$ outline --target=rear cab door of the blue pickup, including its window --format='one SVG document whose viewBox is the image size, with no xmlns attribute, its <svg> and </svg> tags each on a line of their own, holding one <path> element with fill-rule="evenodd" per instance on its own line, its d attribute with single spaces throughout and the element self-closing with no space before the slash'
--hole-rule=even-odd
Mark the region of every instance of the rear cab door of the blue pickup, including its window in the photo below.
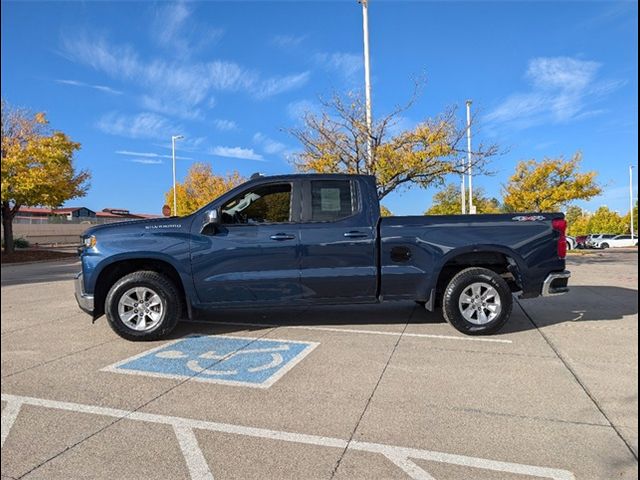
<svg viewBox="0 0 640 480">
<path fill-rule="evenodd" d="M 304 299 L 375 301 L 375 238 L 375 225 L 365 214 L 357 181 L 304 181 L 300 224 Z"/>
</svg>

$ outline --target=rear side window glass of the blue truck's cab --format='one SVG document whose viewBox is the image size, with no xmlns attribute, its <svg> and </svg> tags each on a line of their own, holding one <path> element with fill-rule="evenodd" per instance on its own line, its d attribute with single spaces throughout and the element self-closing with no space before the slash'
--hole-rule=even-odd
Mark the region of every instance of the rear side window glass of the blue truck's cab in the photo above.
<svg viewBox="0 0 640 480">
<path fill-rule="evenodd" d="M 333 222 L 353 215 L 354 195 L 348 180 L 311 182 L 311 220 Z"/>
</svg>

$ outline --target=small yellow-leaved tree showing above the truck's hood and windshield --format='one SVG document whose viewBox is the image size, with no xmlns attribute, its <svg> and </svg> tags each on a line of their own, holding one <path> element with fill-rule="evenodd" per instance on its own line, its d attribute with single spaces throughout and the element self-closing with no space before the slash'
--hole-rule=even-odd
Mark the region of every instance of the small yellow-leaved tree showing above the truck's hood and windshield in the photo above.
<svg viewBox="0 0 640 480">
<path fill-rule="evenodd" d="M 246 179 L 238 172 L 234 171 L 224 176 L 215 175 L 211 165 L 194 163 L 189 168 L 184 182 L 176 184 L 177 215 L 188 215 L 195 212 L 245 181 Z M 165 194 L 165 200 L 173 210 L 173 187 Z M 176 215 L 175 212 L 172 214 Z"/>
</svg>

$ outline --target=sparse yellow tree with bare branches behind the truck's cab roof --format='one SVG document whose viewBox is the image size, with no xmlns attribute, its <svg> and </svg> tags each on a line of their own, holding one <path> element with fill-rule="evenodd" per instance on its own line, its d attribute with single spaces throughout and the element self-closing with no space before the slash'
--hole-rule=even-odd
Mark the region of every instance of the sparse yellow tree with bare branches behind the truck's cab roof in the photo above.
<svg viewBox="0 0 640 480">
<path fill-rule="evenodd" d="M 322 111 L 306 112 L 302 125 L 289 129 L 302 145 L 293 155 L 294 165 L 303 172 L 373 175 L 379 199 L 400 187 L 442 184 L 447 175 L 466 171 L 462 145 L 466 128 L 458 125 L 454 108 L 410 129 L 399 129 L 418 88 L 406 105 L 377 120 L 371 132 L 360 94 L 334 94 L 321 101 Z M 373 147 L 371 158 L 368 142 Z M 479 144 L 472 156 L 474 172 L 480 173 L 497 150 L 495 145 Z"/>
</svg>

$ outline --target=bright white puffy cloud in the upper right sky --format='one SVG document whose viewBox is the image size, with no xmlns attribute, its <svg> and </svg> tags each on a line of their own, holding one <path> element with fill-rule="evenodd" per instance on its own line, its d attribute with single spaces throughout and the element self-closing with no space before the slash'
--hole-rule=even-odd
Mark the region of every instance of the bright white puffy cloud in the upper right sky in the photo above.
<svg viewBox="0 0 640 480">
<path fill-rule="evenodd" d="M 566 123 L 601 114 L 591 104 L 624 85 L 599 81 L 601 64 L 571 57 L 540 57 L 529 61 L 528 92 L 509 95 L 485 117 L 491 125 L 527 128 L 543 123 Z"/>
</svg>

